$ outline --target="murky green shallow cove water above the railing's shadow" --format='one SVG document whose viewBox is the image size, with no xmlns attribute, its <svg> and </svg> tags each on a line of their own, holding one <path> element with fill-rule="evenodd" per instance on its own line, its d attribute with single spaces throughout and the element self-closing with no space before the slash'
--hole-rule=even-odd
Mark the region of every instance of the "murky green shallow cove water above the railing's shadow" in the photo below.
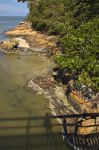
<svg viewBox="0 0 99 150">
<path fill-rule="evenodd" d="M 31 78 L 44 72 L 48 67 L 46 60 L 38 56 L 0 55 L 0 112 L 34 111 L 48 106 L 44 97 L 36 96 L 27 90 Z M 35 107 L 34 107 L 35 104 Z"/>
</svg>

